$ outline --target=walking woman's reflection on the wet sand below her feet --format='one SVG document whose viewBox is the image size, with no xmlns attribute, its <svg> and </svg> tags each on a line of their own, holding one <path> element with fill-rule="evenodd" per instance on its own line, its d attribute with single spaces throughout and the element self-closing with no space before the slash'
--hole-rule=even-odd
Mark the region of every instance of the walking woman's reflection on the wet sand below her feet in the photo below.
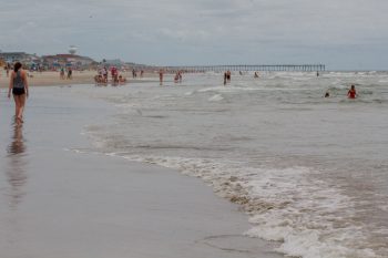
<svg viewBox="0 0 388 258">
<path fill-rule="evenodd" d="M 8 166 L 6 171 L 8 183 L 11 186 L 8 195 L 10 196 L 9 204 L 12 208 L 20 204 L 24 195 L 23 185 L 27 182 L 25 165 L 23 127 L 21 124 L 14 124 L 11 144 L 8 146 Z"/>
</svg>

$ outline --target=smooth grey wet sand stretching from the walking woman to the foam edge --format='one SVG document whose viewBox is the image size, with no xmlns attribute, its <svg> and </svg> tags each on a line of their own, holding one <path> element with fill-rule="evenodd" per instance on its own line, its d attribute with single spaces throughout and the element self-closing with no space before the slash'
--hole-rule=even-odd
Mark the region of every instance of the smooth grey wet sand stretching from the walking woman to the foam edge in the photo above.
<svg viewBox="0 0 388 258">
<path fill-rule="evenodd" d="M 200 179 L 91 153 L 82 127 L 110 111 L 72 90 L 34 89 L 23 126 L 0 96 L 1 257 L 283 257 Z"/>
</svg>

